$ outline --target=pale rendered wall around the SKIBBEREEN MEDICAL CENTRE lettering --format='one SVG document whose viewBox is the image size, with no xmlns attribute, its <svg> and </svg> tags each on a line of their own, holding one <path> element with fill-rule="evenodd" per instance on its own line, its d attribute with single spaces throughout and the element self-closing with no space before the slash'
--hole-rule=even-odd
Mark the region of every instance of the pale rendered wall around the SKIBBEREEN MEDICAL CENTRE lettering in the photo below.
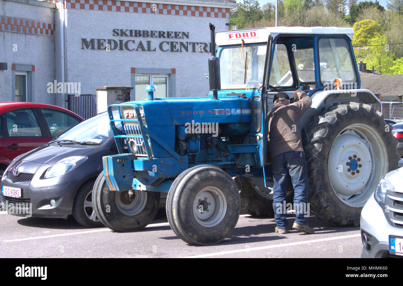
<svg viewBox="0 0 403 286">
<path fill-rule="evenodd" d="M 85 19 L 85 20 L 83 20 Z M 100 21 L 102 19 L 102 21 Z M 94 94 L 96 86 L 131 86 L 131 68 L 163 68 L 176 70 L 171 97 L 205 96 L 208 92 L 207 59 L 205 52 L 160 51 L 161 41 L 189 41 L 210 43 L 208 24 L 216 31 L 226 30 L 226 18 L 143 14 L 99 10 L 67 10 L 66 81 L 81 82 L 81 94 Z M 56 27 L 57 29 L 57 27 Z M 158 31 L 189 31 L 189 39 L 159 39 L 114 37 L 112 29 Z M 152 40 L 156 51 L 105 51 L 81 49 L 81 38 Z M 189 49 L 190 50 L 190 49 Z M 57 65 L 57 62 L 56 62 Z M 56 69 L 56 71 L 58 68 Z"/>
</svg>

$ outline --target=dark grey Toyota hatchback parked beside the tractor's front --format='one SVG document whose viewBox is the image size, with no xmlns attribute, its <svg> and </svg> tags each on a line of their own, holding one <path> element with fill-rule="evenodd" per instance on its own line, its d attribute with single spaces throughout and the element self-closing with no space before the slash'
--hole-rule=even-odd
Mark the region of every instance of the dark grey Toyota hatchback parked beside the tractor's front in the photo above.
<svg viewBox="0 0 403 286">
<path fill-rule="evenodd" d="M 101 226 L 92 206 L 92 187 L 103 171 L 102 156 L 117 152 L 108 113 L 95 115 L 17 156 L 2 177 L 1 203 L 9 214 L 43 218 L 73 214 L 83 226 Z"/>
</svg>

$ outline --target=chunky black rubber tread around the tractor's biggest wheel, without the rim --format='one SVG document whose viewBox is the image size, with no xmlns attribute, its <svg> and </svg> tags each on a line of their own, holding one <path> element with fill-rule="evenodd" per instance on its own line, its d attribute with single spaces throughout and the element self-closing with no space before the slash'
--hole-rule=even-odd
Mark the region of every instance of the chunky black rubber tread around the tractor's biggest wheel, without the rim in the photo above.
<svg viewBox="0 0 403 286">
<path fill-rule="evenodd" d="M 397 140 L 391 132 L 385 132 L 383 116 L 372 106 L 349 102 L 348 104 L 332 106 L 321 115 L 313 117 L 306 130 L 308 138 L 304 138 L 303 142 L 310 183 L 310 210 L 320 220 L 329 224 L 338 226 L 359 225 L 361 208 L 354 208 L 355 210 L 353 210 L 352 207 L 340 201 L 337 204 L 337 196 L 332 190 L 329 180 L 326 179 L 328 178 L 328 154 L 333 144 L 332 138 L 339 134 L 343 126 L 359 121 L 372 126 L 381 135 L 388 152 L 388 171 L 397 168 L 400 157 L 396 149 Z"/>
</svg>

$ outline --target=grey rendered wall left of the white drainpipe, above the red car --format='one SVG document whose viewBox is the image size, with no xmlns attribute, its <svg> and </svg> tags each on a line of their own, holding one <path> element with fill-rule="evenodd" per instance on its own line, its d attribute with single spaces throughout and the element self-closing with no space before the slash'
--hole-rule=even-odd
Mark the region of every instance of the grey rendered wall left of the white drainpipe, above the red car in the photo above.
<svg viewBox="0 0 403 286">
<path fill-rule="evenodd" d="M 32 0 L 0 0 L 1 16 L 54 24 L 53 4 Z M 1 24 L 0 24 L 1 25 Z M 0 70 L 0 101 L 12 98 L 12 64 L 34 65 L 32 101 L 54 104 L 54 95 L 47 93 L 48 82 L 54 80 L 54 36 L 16 33 L 0 30 L 0 62 L 7 62 L 7 70 Z M 17 51 L 13 45 L 17 44 Z M 15 47 L 15 46 L 14 46 Z"/>
</svg>

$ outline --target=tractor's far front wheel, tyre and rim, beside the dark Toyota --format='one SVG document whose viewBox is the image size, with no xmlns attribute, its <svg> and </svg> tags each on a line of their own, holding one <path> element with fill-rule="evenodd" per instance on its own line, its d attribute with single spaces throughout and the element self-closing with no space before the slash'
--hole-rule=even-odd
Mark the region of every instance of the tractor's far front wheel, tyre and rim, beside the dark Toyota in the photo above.
<svg viewBox="0 0 403 286">
<path fill-rule="evenodd" d="M 157 214 L 160 206 L 160 193 L 133 191 L 110 191 L 100 173 L 94 184 L 92 201 L 99 220 L 115 231 L 141 230 L 149 224 Z"/>
</svg>

